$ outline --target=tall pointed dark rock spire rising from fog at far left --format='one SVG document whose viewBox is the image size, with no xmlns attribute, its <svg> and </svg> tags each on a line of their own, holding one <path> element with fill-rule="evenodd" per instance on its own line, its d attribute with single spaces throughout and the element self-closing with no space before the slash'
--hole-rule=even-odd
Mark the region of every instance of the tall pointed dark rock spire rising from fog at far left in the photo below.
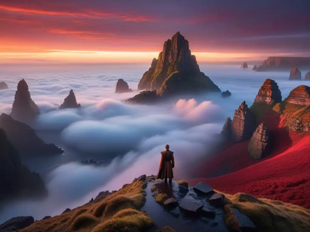
<svg viewBox="0 0 310 232">
<path fill-rule="evenodd" d="M 12 105 L 11 116 L 21 122 L 28 122 L 35 119 L 40 111 L 32 101 L 28 85 L 24 79 L 17 84 L 15 99 Z"/>
</svg>

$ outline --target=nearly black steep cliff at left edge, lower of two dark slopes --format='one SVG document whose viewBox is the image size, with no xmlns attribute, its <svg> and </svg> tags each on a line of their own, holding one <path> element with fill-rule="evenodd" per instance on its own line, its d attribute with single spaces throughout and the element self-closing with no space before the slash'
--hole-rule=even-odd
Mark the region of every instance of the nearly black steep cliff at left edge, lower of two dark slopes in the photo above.
<svg viewBox="0 0 310 232">
<path fill-rule="evenodd" d="M 45 196 L 47 190 L 39 174 L 21 163 L 18 151 L 0 128 L 0 197 Z"/>
</svg>

